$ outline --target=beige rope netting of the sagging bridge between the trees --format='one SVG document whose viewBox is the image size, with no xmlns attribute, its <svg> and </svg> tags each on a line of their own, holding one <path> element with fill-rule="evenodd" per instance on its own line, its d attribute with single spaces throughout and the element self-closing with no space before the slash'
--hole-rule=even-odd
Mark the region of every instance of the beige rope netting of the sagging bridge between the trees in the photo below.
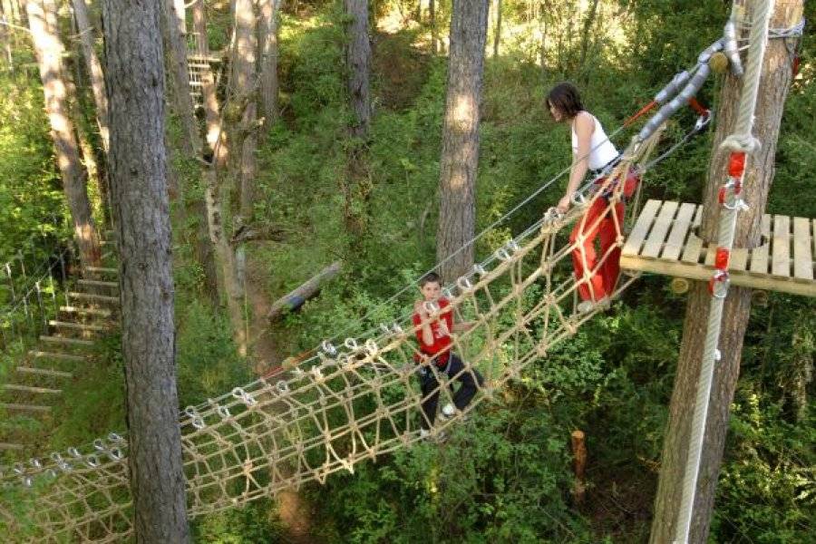
<svg viewBox="0 0 816 544">
<path fill-rule="evenodd" d="M 452 402 L 460 374 L 478 371 L 484 380 L 481 385 L 474 380 L 479 393 L 461 413 L 438 421 L 434 434 L 459 424 L 604 308 L 578 311 L 578 288 L 590 284 L 622 247 L 624 227 L 615 210 L 627 177 L 636 163 L 645 163 L 656 138 L 631 146 L 586 204 L 564 216 L 548 212 L 444 289 L 456 320 L 472 326 L 452 335 L 451 349 L 464 362 L 459 374 L 424 365 L 439 382 L 439 405 Z M 585 224 L 586 209 L 598 202 L 605 203 L 606 212 Z M 595 237 L 605 218 L 614 224 L 614 243 L 575 277 L 574 251 Z M 580 227 L 567 236 L 565 227 L 573 223 Z M 635 279 L 621 277 L 613 296 Z M 438 312 L 432 308 L 429 319 Z M 423 398 L 414 377 L 423 367 L 416 362 L 421 354 L 415 334 L 421 327 L 409 319 L 383 325 L 366 338 L 349 338 L 340 349 L 326 342 L 310 368 L 296 368 L 277 381 L 259 379 L 185 409 L 180 427 L 190 516 L 307 481 L 325 482 L 336 471 L 354 471 L 359 461 L 420 440 L 426 417 L 421 406 L 434 394 Z M 0 506 L 0 526 L 18 541 L 112 542 L 131 533 L 127 440 L 121 435 L 17 463 L 0 475 L 0 484 L 7 499 Z"/>
</svg>

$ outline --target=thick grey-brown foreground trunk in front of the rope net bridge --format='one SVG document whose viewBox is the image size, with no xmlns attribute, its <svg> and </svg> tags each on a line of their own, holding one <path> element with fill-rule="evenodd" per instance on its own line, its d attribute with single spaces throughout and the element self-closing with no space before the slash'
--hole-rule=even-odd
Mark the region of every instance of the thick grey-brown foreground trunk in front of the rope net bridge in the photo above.
<svg viewBox="0 0 816 544">
<path fill-rule="evenodd" d="M 157 3 L 105 0 L 111 178 L 136 542 L 188 542 L 176 391 L 164 74 Z"/>
</svg>

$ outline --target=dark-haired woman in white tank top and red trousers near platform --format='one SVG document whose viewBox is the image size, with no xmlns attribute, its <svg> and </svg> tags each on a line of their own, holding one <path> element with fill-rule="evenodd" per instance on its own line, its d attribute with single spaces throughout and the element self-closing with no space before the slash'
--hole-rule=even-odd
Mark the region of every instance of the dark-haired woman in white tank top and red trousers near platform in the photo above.
<svg viewBox="0 0 816 544">
<path fill-rule="evenodd" d="M 617 149 L 607 138 L 596 117 L 584 109 L 581 97 L 572 83 L 559 83 L 547 95 L 547 107 L 553 120 L 569 123 L 572 129 L 572 169 L 569 172 L 567 192 L 556 207 L 566 213 L 572 195 L 589 171 L 596 184 L 606 180 L 607 174 L 620 160 Z M 628 183 L 627 183 L 628 184 Z M 578 279 L 578 311 L 586 313 L 597 305 L 608 303 L 615 291 L 620 274 L 620 248 L 616 246 L 618 232 L 623 224 L 624 204 L 618 201 L 612 214 L 607 200 L 609 189 L 590 201 L 589 208 L 569 235 L 569 241 L 578 245 L 572 251 L 572 263 Z M 614 217 L 613 217 L 614 216 Z M 600 253 L 595 240 L 600 238 Z"/>
</svg>

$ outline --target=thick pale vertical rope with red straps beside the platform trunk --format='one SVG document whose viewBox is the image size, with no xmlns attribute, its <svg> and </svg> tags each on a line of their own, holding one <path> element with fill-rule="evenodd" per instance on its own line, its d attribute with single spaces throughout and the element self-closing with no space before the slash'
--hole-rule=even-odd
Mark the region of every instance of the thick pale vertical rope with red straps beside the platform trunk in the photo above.
<svg viewBox="0 0 816 544">
<path fill-rule="evenodd" d="M 686 458 L 683 481 L 683 496 L 680 502 L 680 513 L 675 531 L 675 543 L 687 544 L 691 530 L 691 520 L 695 505 L 697 481 L 700 474 L 700 461 L 703 455 L 705 423 L 708 419 L 708 406 L 714 381 L 714 362 L 719 360 L 717 345 L 723 321 L 723 306 L 728 292 L 728 256 L 733 248 L 734 231 L 736 230 L 737 212 L 743 206 L 740 198 L 745 176 L 744 154 L 753 153 L 760 147 L 752 134 L 753 113 L 756 108 L 756 96 L 759 90 L 760 74 L 768 40 L 768 23 L 772 11 L 772 0 L 754 2 L 753 22 L 748 49 L 748 63 L 745 68 L 743 92 L 740 99 L 739 114 L 733 134 L 725 139 L 723 147 L 735 152 L 729 166 L 730 180 L 724 186 L 726 200 L 720 214 L 717 237 L 717 254 L 724 256 L 724 262 L 718 258 L 718 267 L 710 283 L 712 292 L 711 306 L 708 312 L 708 325 L 705 335 L 703 362 L 697 380 L 695 397 L 695 414 L 689 437 L 688 457 Z M 740 157 L 742 160 L 740 160 Z M 736 178 L 736 179 L 734 179 Z"/>
</svg>

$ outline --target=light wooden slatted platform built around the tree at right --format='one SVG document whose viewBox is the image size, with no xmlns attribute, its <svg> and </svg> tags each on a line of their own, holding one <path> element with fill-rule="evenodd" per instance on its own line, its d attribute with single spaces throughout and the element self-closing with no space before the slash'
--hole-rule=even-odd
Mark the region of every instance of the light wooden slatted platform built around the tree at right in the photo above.
<svg viewBox="0 0 816 544">
<path fill-rule="evenodd" d="M 707 281 L 715 247 L 695 235 L 702 206 L 648 200 L 620 257 L 624 269 Z M 816 219 L 765 215 L 763 245 L 734 248 L 729 273 L 734 286 L 816 296 Z"/>
</svg>

